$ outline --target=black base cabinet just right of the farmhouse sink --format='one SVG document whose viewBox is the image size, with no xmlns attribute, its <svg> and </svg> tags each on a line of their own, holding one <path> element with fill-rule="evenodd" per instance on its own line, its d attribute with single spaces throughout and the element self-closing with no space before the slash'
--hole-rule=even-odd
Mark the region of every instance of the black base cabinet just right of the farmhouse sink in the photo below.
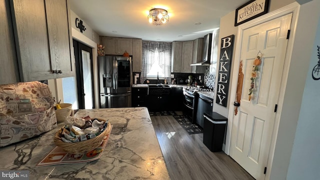
<svg viewBox="0 0 320 180">
<path fill-rule="evenodd" d="M 170 110 L 182 110 L 183 91 L 182 87 L 171 87 Z"/>
</svg>

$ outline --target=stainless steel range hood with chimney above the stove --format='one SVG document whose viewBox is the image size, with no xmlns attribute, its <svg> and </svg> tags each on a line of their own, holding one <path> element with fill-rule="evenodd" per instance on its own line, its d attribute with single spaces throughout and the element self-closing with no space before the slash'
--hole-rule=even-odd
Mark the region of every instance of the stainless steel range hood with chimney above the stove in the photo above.
<svg viewBox="0 0 320 180">
<path fill-rule="evenodd" d="M 203 37 L 203 50 L 202 50 L 202 61 L 192 63 L 190 65 L 210 65 L 211 59 L 211 44 L 212 44 L 212 33 L 208 33 Z"/>
</svg>

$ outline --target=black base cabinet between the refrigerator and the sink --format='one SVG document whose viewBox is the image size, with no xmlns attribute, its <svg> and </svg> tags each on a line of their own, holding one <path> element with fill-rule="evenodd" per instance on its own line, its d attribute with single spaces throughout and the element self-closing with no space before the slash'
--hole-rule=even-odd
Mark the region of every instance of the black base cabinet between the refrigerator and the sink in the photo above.
<svg viewBox="0 0 320 180">
<path fill-rule="evenodd" d="M 132 87 L 132 106 L 145 107 L 147 99 L 147 87 Z"/>
</svg>

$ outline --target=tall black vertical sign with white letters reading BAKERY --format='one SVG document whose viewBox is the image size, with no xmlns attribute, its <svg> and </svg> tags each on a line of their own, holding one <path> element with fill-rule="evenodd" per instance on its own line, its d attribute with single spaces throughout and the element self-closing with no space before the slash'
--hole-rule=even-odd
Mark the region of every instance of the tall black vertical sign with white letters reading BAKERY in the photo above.
<svg viewBox="0 0 320 180">
<path fill-rule="evenodd" d="M 215 102 L 226 107 L 229 90 L 229 76 L 233 49 L 233 34 L 221 38 L 218 83 Z"/>
</svg>

